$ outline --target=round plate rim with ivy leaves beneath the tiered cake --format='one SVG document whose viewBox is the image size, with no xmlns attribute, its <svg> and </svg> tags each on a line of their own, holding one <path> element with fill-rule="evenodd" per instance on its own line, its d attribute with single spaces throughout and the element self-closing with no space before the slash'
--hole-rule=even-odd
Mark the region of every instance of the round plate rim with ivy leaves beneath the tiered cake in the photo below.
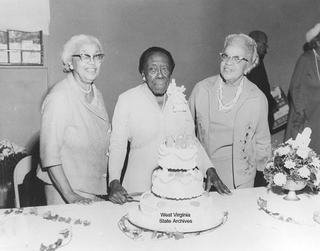
<svg viewBox="0 0 320 251">
<path fill-rule="evenodd" d="M 137 213 L 137 212 L 135 212 Z M 142 215 L 139 211 L 139 214 Z M 209 228 L 197 230 L 197 231 L 188 231 L 188 232 L 179 232 L 179 231 L 164 231 L 163 229 L 155 229 L 155 227 L 151 227 L 148 224 L 141 224 L 141 222 L 137 223 L 136 221 L 130 220 L 129 214 L 126 214 L 121 218 L 118 223 L 119 228 L 123 231 L 123 233 L 131 239 L 136 241 L 143 240 L 164 240 L 169 238 L 189 238 L 193 236 L 198 236 L 206 233 L 210 233 L 211 231 L 216 230 L 221 227 L 228 219 L 228 212 L 222 212 L 223 216 L 219 221 L 212 224 Z M 165 224 L 165 223 L 164 223 Z"/>
</svg>

